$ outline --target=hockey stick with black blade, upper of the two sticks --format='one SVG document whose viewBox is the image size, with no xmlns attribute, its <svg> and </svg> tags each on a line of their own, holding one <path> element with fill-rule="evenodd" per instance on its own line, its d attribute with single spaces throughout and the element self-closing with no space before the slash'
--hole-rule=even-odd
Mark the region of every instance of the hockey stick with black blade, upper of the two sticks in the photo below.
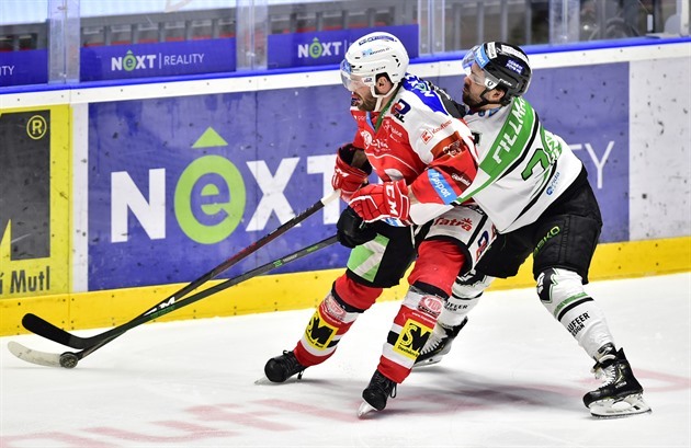
<svg viewBox="0 0 691 448">
<path fill-rule="evenodd" d="M 299 222 L 304 221 L 309 216 L 311 216 L 315 212 L 319 211 L 321 208 L 324 208 L 324 206 L 326 204 L 328 204 L 329 202 L 331 202 L 335 198 L 339 197 L 339 193 L 340 192 L 337 189 L 337 191 L 332 192 L 331 194 L 329 194 L 328 196 L 322 197 L 321 199 L 319 199 L 317 203 L 315 203 L 311 207 L 309 207 L 308 209 L 306 209 L 302 214 L 295 216 L 293 219 L 284 222 L 282 226 L 280 226 L 279 228 L 274 229 L 273 231 L 271 231 L 267 236 L 264 236 L 264 237 L 260 238 L 259 240 L 254 241 L 252 244 L 250 244 L 247 248 L 242 249 L 240 252 L 236 253 L 235 255 L 233 255 L 231 257 L 229 257 L 225 262 L 220 263 L 218 266 L 214 267 L 213 269 L 211 269 L 209 272 L 207 272 L 203 276 L 201 276 L 197 279 L 195 279 L 195 280 L 189 283 L 188 285 L 185 285 L 182 289 L 173 292 L 171 296 L 168 296 L 167 298 L 161 300 L 158 305 L 156 305 L 154 308 L 145 311 L 144 313 L 139 314 L 138 317 L 136 317 L 132 321 L 129 321 L 127 323 L 124 323 L 124 324 L 122 324 L 120 326 L 115 326 L 114 329 L 111 329 L 111 330 L 109 330 L 106 332 L 103 332 L 101 334 L 97 334 L 97 335 L 91 336 L 91 337 L 79 337 L 79 336 L 76 336 L 76 335 L 73 335 L 71 333 L 68 333 L 67 331 L 65 331 L 65 330 L 54 325 L 53 323 L 46 321 L 43 318 L 39 318 L 36 314 L 33 314 L 33 313 L 24 314 L 24 317 L 22 318 L 22 325 L 24 325 L 24 328 L 26 330 L 31 331 L 32 333 L 35 333 L 35 334 L 37 334 L 39 336 L 48 338 L 48 340 L 50 340 L 53 342 L 57 342 L 58 344 L 67 345 L 68 347 L 72 347 L 72 348 L 89 348 L 91 346 L 98 345 L 102 341 L 109 340 L 113 335 L 120 335 L 123 332 L 125 332 L 125 331 L 127 331 L 127 330 L 138 325 L 138 323 L 135 323 L 135 322 L 140 322 L 140 320 L 143 318 L 146 318 L 149 314 L 156 314 L 157 311 L 160 311 L 160 310 L 162 310 L 162 309 L 165 309 L 167 307 L 170 307 L 171 305 L 175 303 L 175 301 L 179 300 L 180 298 L 182 298 L 183 296 L 186 296 L 188 294 L 192 292 L 194 289 L 199 288 L 200 286 L 202 286 L 206 282 L 208 282 L 212 278 L 220 275 L 223 272 L 227 271 L 233 265 L 237 264 L 238 262 L 240 262 L 241 260 L 243 260 L 248 255 L 254 253 L 256 251 L 258 251 L 259 249 L 263 248 L 264 245 L 267 245 L 271 241 L 275 240 L 276 238 L 282 236 L 283 233 L 285 233 L 287 230 L 292 229 L 293 227 L 295 227 Z M 145 320 L 144 322 L 147 322 L 147 321 Z"/>
</svg>

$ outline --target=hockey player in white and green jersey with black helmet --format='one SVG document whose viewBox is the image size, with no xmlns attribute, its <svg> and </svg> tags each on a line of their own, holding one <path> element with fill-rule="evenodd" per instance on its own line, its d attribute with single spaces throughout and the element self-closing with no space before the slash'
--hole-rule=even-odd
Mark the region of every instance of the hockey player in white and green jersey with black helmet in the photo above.
<svg viewBox="0 0 691 448">
<path fill-rule="evenodd" d="M 531 80 L 518 46 L 484 43 L 463 60 L 464 119 L 480 158 L 473 198 L 498 236 L 475 269 L 456 279 L 416 367 L 439 363 L 494 278 L 514 276 L 533 254 L 541 302 L 596 361 L 603 384 L 584 397 L 597 417 L 649 412 L 623 349 L 616 349 L 602 310 L 585 291 L 602 219 L 584 164 L 542 126 L 522 95 Z"/>
</svg>

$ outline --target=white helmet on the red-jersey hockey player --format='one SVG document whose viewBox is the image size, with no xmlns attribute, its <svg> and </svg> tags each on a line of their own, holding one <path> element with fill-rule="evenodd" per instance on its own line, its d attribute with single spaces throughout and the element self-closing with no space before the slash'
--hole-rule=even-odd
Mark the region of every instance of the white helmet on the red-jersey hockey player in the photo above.
<svg viewBox="0 0 691 448">
<path fill-rule="evenodd" d="M 408 51 L 398 37 L 383 32 L 371 33 L 348 47 L 341 62 L 341 80 L 350 91 L 365 84 L 374 96 L 380 96 L 374 91 L 376 76 L 386 73 L 395 85 L 406 76 L 408 61 Z"/>
</svg>

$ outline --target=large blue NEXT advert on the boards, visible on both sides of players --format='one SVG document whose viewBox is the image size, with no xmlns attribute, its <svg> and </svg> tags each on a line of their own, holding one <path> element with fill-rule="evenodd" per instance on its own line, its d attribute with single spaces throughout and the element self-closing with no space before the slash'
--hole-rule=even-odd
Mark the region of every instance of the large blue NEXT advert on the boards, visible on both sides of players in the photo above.
<svg viewBox="0 0 691 448">
<path fill-rule="evenodd" d="M 591 70 L 539 70 L 528 99 L 584 160 L 601 240 L 626 241 L 628 65 L 580 81 Z M 90 104 L 89 290 L 192 280 L 309 207 L 330 188 L 336 148 L 352 140 L 349 99 L 326 85 Z M 227 274 L 326 238 L 337 219 L 328 208 Z M 285 272 L 344 265 L 346 250 L 325 252 Z"/>
</svg>

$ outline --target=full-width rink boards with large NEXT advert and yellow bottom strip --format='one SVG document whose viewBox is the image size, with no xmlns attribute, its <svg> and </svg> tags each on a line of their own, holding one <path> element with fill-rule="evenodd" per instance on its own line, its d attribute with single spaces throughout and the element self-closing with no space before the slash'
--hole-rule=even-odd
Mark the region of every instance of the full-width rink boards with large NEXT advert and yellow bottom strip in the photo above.
<svg viewBox="0 0 691 448">
<path fill-rule="evenodd" d="M 331 57 L 340 46 L 330 38 L 284 45 L 293 57 Z M 102 62 L 134 71 L 151 59 L 133 51 L 136 62 L 125 62 L 120 49 L 105 57 L 116 62 Z M 605 244 L 591 280 L 691 268 L 689 102 L 668 88 L 687 81 L 688 49 L 530 54 L 526 99 L 584 161 L 601 205 Z M 461 59 L 422 58 L 410 71 L 460 97 Z M 199 58 L 177 59 L 185 60 Z M 0 100 L 0 334 L 22 333 L 27 310 L 72 330 L 129 320 L 327 196 L 337 148 L 355 131 L 336 66 L 111 80 Z M 667 175 L 650 176 L 650 166 Z M 332 236 L 342 208 L 327 204 L 222 277 Z M 337 244 L 161 319 L 307 308 L 347 257 Z M 533 286 L 531 267 L 492 288 Z M 400 299 L 405 286 L 382 300 Z"/>
</svg>

